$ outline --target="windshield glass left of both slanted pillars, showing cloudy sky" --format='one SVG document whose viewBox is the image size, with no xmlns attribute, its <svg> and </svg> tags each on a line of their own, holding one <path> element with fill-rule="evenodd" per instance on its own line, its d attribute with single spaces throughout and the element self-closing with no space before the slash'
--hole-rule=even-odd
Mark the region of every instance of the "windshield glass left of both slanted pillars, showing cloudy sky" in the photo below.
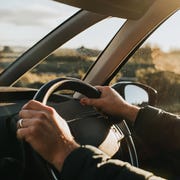
<svg viewBox="0 0 180 180">
<path fill-rule="evenodd" d="M 0 0 L 0 72 L 79 9 L 51 0 Z"/>
</svg>

